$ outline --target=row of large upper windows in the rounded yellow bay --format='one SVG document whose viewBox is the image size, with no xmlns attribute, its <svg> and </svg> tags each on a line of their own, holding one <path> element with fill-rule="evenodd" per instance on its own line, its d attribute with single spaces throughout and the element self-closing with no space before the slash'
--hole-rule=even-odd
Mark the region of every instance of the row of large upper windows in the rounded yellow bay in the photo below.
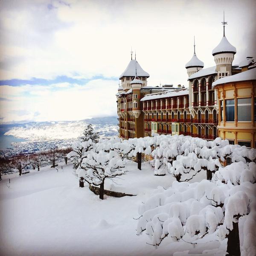
<svg viewBox="0 0 256 256">
<path fill-rule="evenodd" d="M 221 105 L 221 121 L 224 117 L 224 106 L 223 100 L 220 101 Z M 237 120 L 238 121 L 251 121 L 251 98 L 237 99 L 237 104 L 235 104 L 235 99 L 225 100 L 225 114 L 227 122 L 234 122 L 235 119 L 235 107 L 237 108 Z M 256 121 L 256 98 L 254 98 L 254 121 Z"/>
</svg>

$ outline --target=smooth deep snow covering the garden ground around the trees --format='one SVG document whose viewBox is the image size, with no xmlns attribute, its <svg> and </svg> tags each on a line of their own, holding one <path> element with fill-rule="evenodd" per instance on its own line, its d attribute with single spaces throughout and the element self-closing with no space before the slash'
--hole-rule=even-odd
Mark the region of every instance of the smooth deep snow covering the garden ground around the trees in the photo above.
<svg viewBox="0 0 256 256">
<path fill-rule="evenodd" d="M 137 196 L 106 200 L 100 200 L 88 185 L 79 188 L 71 164 L 61 163 L 58 172 L 46 166 L 21 177 L 4 175 L 0 181 L 1 255 L 195 256 L 214 255 L 219 247 L 225 250 L 226 240 L 201 241 L 195 248 L 186 242 L 163 241 L 155 249 L 146 244 L 146 236 L 137 236 L 134 218 L 139 217 L 141 202 L 157 186 L 169 187 L 175 180 L 172 175 L 154 176 L 148 163 L 142 167 L 140 171 L 136 163 L 128 163 L 128 174 L 114 180 L 117 184 L 108 181 L 105 186 Z M 201 172 L 194 179 L 205 177 Z"/>
</svg>

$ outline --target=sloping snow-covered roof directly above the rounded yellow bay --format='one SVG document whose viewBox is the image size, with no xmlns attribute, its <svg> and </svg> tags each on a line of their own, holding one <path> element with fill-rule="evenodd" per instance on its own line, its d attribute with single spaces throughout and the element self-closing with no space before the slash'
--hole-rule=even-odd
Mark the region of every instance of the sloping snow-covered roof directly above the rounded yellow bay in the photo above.
<svg viewBox="0 0 256 256">
<path fill-rule="evenodd" d="M 217 81 L 212 83 L 212 87 L 218 84 L 227 84 L 231 82 L 250 81 L 250 80 L 256 80 L 256 68 L 238 73 L 233 76 L 226 76 L 221 79 L 218 79 Z"/>
</svg>

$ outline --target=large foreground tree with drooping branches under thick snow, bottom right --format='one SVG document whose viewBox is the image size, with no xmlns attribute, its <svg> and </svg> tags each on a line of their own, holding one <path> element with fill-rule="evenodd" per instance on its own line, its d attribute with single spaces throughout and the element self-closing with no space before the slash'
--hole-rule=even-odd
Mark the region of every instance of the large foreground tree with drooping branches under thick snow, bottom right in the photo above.
<svg viewBox="0 0 256 256">
<path fill-rule="evenodd" d="M 252 234 L 256 224 L 255 177 L 254 162 L 239 162 L 220 168 L 212 181 L 175 181 L 169 189 L 159 187 L 139 208 L 137 234 L 145 230 L 149 244 L 154 246 L 163 239 L 196 245 L 198 239 L 211 234 L 212 240 L 228 238 L 227 252 L 240 255 L 239 218 L 248 215 L 245 234 Z M 253 241 L 253 237 L 248 239 Z M 250 250 L 244 255 L 256 254 L 256 247 L 243 246 L 243 250 Z"/>
</svg>

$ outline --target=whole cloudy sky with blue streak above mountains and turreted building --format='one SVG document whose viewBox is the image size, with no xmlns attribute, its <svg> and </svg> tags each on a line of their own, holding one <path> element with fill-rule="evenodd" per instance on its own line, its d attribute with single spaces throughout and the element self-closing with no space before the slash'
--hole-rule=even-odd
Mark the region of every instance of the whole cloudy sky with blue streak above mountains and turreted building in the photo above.
<svg viewBox="0 0 256 256">
<path fill-rule="evenodd" d="M 214 66 L 223 36 L 233 64 L 256 57 L 254 0 L 0 0 L 0 123 L 116 115 L 119 75 L 131 59 L 149 86 L 188 86 L 196 54 Z"/>
</svg>

